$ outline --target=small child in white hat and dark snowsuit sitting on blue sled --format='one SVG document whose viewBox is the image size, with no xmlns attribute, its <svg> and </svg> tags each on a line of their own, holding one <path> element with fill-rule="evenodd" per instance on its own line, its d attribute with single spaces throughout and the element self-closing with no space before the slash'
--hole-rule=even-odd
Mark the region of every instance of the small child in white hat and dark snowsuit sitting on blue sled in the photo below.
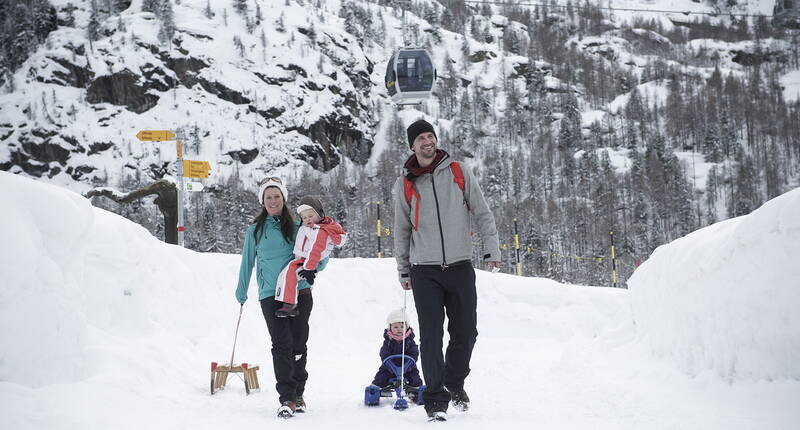
<svg viewBox="0 0 800 430">
<path fill-rule="evenodd" d="M 391 355 L 403 354 L 404 352 L 405 355 L 413 358 L 416 362 L 419 357 L 419 348 L 414 341 L 414 330 L 408 325 L 408 319 L 403 310 L 398 309 L 390 312 L 386 317 L 386 324 L 388 327 L 383 331 L 383 345 L 380 351 L 381 363 Z M 404 343 L 405 348 L 403 347 Z M 399 359 L 395 361 L 397 361 L 396 365 L 400 365 Z M 406 385 L 403 388 L 408 395 L 408 399 L 416 403 L 419 387 L 422 385 L 422 378 L 419 376 L 416 363 L 408 368 L 403 377 L 406 380 Z M 389 383 L 389 380 L 393 378 L 396 378 L 396 375 L 381 365 L 372 380 L 372 385 L 380 387 L 381 392 L 388 393 L 400 383 L 399 381 L 395 381 L 393 384 Z"/>
</svg>

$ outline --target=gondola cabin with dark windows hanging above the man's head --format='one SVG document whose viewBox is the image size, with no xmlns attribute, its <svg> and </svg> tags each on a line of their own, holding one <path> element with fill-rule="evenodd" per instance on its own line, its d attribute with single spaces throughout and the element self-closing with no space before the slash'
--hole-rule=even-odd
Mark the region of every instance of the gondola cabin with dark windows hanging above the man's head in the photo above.
<svg viewBox="0 0 800 430">
<path fill-rule="evenodd" d="M 424 49 L 401 49 L 386 66 L 386 91 L 400 105 L 427 100 L 435 81 L 436 69 Z"/>
</svg>

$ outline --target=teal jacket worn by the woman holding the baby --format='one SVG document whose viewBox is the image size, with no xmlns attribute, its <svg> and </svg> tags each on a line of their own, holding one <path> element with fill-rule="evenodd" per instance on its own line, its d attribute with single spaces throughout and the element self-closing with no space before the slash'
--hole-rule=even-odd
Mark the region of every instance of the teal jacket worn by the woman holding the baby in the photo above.
<svg viewBox="0 0 800 430">
<path fill-rule="evenodd" d="M 292 232 L 292 241 L 287 243 L 281 234 L 280 218 L 268 216 L 264 220 L 258 245 L 253 237 L 256 225 L 252 224 L 245 234 L 244 247 L 242 248 L 242 264 L 239 266 L 239 285 L 236 287 L 236 300 L 239 303 L 247 301 L 247 289 L 250 285 L 250 276 L 253 273 L 253 264 L 256 267 L 256 281 L 258 282 L 258 299 L 263 300 L 275 295 L 275 283 L 284 267 L 294 260 L 294 239 L 297 237 L 299 222 L 295 222 Z M 328 259 L 320 261 L 317 271 L 322 271 L 328 264 Z M 300 280 L 297 289 L 309 288 L 308 282 Z"/>
</svg>

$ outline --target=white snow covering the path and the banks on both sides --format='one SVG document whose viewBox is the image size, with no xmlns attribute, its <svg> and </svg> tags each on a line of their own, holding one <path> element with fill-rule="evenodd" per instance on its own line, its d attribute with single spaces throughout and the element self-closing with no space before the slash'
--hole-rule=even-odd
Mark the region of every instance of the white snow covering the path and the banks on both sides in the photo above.
<svg viewBox="0 0 800 430">
<path fill-rule="evenodd" d="M 235 361 L 261 364 L 262 390 L 245 396 L 234 379 L 208 393 L 210 362 L 230 357 L 237 255 L 166 245 L 77 194 L 5 172 L 0 207 L 3 428 L 283 424 L 253 300 Z M 473 405 L 445 425 L 798 428 L 798 215 L 795 190 L 665 245 L 630 292 L 479 271 Z M 403 300 L 394 261 L 335 259 L 314 299 L 310 410 L 285 425 L 427 428 L 420 407 L 362 403 L 385 315 Z"/>
</svg>

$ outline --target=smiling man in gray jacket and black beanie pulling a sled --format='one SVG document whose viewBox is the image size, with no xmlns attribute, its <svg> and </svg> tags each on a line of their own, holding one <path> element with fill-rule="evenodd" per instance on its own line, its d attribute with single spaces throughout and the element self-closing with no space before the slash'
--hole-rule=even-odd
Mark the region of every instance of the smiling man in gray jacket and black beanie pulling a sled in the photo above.
<svg viewBox="0 0 800 430">
<path fill-rule="evenodd" d="M 487 269 L 499 268 L 497 228 L 469 168 L 437 148 L 425 120 L 406 130 L 414 154 L 394 185 L 394 252 L 400 285 L 413 290 L 420 330 L 425 410 L 447 419 L 447 406 L 466 410 L 472 348 L 478 336 L 470 218 L 484 242 Z M 450 343 L 442 356 L 444 316 Z"/>
</svg>

